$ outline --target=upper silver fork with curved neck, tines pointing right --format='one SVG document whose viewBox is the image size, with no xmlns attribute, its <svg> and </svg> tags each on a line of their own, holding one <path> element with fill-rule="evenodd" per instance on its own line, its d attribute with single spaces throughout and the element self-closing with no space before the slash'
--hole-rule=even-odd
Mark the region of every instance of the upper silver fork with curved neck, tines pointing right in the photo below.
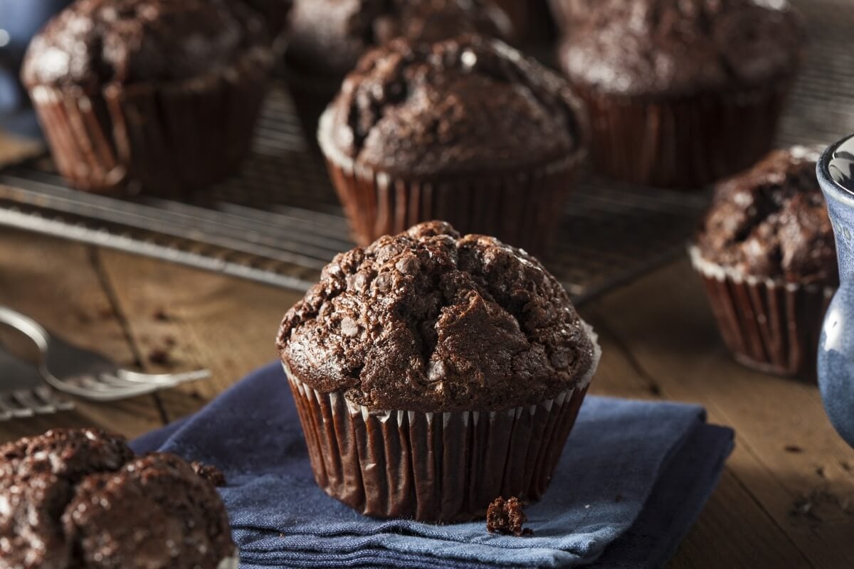
<svg viewBox="0 0 854 569">
<path fill-rule="evenodd" d="M 94 401 L 132 398 L 210 377 L 208 369 L 181 374 L 143 374 L 118 365 L 93 351 L 69 344 L 41 324 L 0 306 L 0 322 L 17 329 L 41 352 L 38 370 L 55 389 Z"/>
</svg>

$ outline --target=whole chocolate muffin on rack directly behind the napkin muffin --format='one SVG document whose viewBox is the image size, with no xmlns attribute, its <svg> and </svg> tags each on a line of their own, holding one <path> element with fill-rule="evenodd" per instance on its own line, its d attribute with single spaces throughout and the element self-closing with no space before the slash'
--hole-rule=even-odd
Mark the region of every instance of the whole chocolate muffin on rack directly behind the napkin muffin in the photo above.
<svg viewBox="0 0 854 569">
<path fill-rule="evenodd" d="M 553 239 L 586 137 L 563 79 L 472 35 L 371 51 L 318 131 L 358 243 L 436 218 L 535 253 Z"/>
</svg>

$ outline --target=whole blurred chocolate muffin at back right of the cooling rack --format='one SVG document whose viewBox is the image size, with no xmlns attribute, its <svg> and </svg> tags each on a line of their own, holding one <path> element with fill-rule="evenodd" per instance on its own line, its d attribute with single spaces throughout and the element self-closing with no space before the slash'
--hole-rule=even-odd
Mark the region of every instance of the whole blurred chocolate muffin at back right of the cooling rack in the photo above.
<svg viewBox="0 0 854 569">
<path fill-rule="evenodd" d="M 560 58 L 600 171 L 695 188 L 769 151 L 803 44 L 787 0 L 605 0 Z"/>
</svg>

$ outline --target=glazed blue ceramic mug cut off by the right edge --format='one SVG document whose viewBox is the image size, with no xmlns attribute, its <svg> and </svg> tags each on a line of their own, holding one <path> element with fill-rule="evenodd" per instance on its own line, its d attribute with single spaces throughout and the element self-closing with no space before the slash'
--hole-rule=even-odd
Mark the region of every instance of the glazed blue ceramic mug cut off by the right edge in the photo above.
<svg viewBox="0 0 854 569">
<path fill-rule="evenodd" d="M 822 155 L 818 181 L 834 224 L 842 282 L 824 320 L 818 385 L 830 422 L 854 446 L 854 135 Z"/>
</svg>

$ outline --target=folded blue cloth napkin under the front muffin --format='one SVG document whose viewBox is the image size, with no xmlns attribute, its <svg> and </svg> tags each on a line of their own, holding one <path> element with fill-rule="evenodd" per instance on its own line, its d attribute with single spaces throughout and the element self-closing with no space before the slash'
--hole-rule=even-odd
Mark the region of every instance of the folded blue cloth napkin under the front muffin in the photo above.
<svg viewBox="0 0 854 569">
<path fill-rule="evenodd" d="M 250 374 L 198 414 L 149 433 L 225 472 L 241 567 L 657 567 L 675 552 L 722 472 L 733 432 L 693 405 L 588 398 L 546 496 L 526 508 L 534 537 L 483 521 L 374 520 L 314 484 L 280 365 Z"/>
</svg>

